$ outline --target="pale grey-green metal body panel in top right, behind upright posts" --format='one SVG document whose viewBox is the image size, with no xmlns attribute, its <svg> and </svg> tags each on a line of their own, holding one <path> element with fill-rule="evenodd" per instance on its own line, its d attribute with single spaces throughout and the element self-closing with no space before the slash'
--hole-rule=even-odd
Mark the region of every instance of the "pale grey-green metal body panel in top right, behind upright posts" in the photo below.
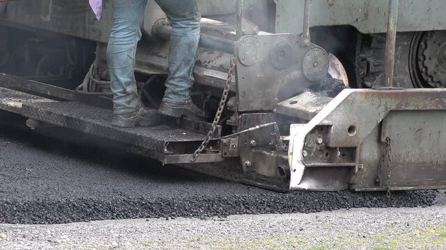
<svg viewBox="0 0 446 250">
<path fill-rule="evenodd" d="M 388 0 L 312 0 L 310 26 L 355 26 L 362 33 L 385 33 Z M 305 0 L 277 1 L 276 33 L 302 33 Z M 400 1 L 398 31 L 443 30 L 445 1 Z"/>
</svg>

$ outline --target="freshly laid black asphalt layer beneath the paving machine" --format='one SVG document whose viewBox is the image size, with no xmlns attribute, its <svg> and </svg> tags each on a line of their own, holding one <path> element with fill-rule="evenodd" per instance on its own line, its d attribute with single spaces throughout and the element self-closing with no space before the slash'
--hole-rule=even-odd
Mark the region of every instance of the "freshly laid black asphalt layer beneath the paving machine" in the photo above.
<svg viewBox="0 0 446 250">
<path fill-rule="evenodd" d="M 11 126 L 13 121 L 22 123 L 23 119 L 0 113 L 3 223 L 431 206 L 437 195 L 429 190 L 392 192 L 390 198 L 383 192 L 280 194 L 162 166 L 74 131 L 45 128 L 44 134 L 52 137 L 39 135 Z"/>
</svg>

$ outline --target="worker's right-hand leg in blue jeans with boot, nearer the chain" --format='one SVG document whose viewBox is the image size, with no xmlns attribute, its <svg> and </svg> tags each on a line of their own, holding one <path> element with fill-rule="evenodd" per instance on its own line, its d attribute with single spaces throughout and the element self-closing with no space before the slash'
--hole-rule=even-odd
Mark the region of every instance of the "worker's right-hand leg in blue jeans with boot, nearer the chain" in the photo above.
<svg viewBox="0 0 446 250">
<path fill-rule="evenodd" d="M 203 116 L 192 103 L 192 69 L 200 40 L 200 13 L 196 0 L 156 0 L 172 24 L 169 77 L 160 113 L 171 116 Z M 166 106 L 167 105 L 167 106 Z"/>
</svg>

